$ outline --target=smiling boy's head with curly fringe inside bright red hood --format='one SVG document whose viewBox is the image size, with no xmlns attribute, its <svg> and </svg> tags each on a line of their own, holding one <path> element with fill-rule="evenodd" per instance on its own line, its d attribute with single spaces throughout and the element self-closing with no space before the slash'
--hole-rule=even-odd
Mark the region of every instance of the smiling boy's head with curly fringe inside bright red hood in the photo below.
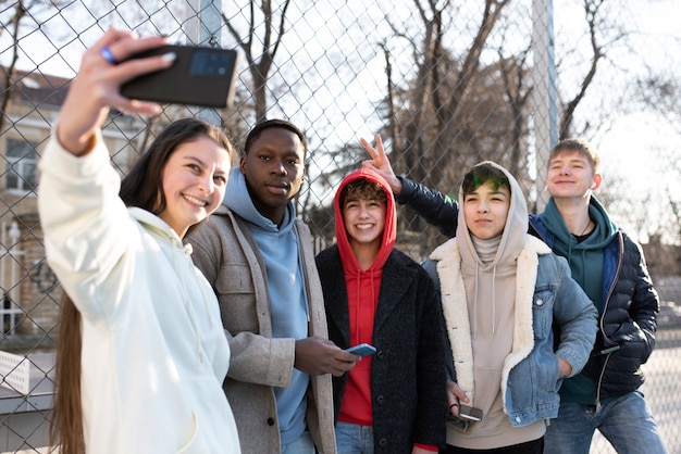
<svg viewBox="0 0 681 454">
<path fill-rule="evenodd" d="M 395 200 L 388 184 L 372 171 L 355 171 L 340 182 L 334 210 L 336 241 L 344 266 L 369 269 L 359 265 L 361 250 L 375 253 L 370 268 L 383 267 L 395 245 L 397 230 Z"/>
</svg>

